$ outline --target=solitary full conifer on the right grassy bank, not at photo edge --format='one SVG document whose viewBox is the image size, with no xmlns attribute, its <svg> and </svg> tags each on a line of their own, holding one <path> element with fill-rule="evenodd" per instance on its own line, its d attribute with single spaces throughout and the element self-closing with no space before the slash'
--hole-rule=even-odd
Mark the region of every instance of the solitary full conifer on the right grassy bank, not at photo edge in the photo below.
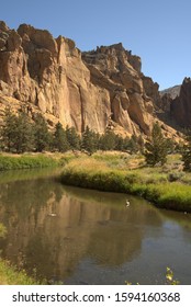
<svg viewBox="0 0 191 307">
<path fill-rule="evenodd" d="M 155 166 L 157 163 L 165 164 L 168 154 L 168 143 L 162 136 L 161 128 L 158 123 L 155 123 L 151 130 L 151 139 L 145 144 L 144 151 L 146 163 Z"/>
</svg>

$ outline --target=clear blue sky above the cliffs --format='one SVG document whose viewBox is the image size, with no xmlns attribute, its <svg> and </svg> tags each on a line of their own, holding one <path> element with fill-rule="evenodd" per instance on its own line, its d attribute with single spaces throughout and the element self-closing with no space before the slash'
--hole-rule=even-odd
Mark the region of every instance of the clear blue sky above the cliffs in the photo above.
<svg viewBox="0 0 191 307">
<path fill-rule="evenodd" d="M 5 0 L 0 20 L 72 38 L 81 50 L 123 43 L 160 89 L 191 77 L 190 0 Z"/>
</svg>

